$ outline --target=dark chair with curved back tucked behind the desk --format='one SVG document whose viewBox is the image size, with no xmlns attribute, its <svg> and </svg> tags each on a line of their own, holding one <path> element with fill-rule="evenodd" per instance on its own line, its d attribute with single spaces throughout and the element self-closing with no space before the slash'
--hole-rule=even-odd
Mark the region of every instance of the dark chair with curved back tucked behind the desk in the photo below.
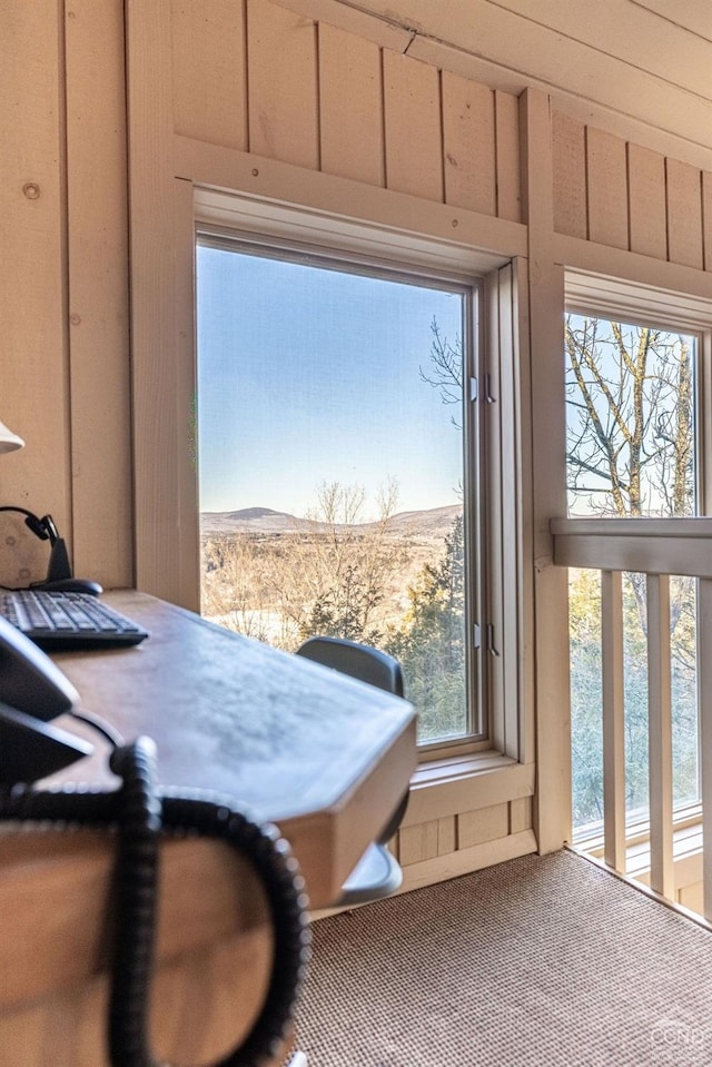
<svg viewBox="0 0 712 1067">
<path fill-rule="evenodd" d="M 370 645 L 347 641 L 345 638 L 309 638 L 297 649 L 297 655 L 323 666 L 330 666 L 377 689 L 384 689 L 395 696 L 403 696 L 400 664 L 392 655 Z M 388 851 L 387 842 L 398 829 L 407 804 L 406 792 L 378 841 L 366 849 L 344 883 L 337 906 L 348 907 L 379 900 L 398 888 L 403 881 L 403 871 L 395 856 Z"/>
</svg>

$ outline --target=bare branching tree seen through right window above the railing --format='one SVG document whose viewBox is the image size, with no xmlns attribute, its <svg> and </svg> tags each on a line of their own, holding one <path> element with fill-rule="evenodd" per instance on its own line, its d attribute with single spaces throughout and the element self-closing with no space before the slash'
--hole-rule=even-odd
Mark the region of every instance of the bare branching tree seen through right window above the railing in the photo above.
<svg viewBox="0 0 712 1067">
<path fill-rule="evenodd" d="M 691 514 L 689 339 L 573 315 L 564 336 L 572 508 L 619 517 Z"/>
</svg>

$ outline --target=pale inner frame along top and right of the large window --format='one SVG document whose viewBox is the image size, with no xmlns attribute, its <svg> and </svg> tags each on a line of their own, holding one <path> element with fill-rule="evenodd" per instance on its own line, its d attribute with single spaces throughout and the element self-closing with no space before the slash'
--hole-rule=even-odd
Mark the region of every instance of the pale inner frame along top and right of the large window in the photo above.
<svg viewBox="0 0 712 1067">
<path fill-rule="evenodd" d="M 413 280 L 418 277 L 433 279 L 445 286 L 454 284 L 476 290 L 477 298 L 473 302 L 473 340 L 478 347 L 481 367 L 477 387 L 476 418 L 477 443 L 475 461 L 476 475 L 479 480 L 475 510 L 477 516 L 487 516 L 501 504 L 502 486 L 511 484 L 516 475 L 521 481 L 521 472 L 504 470 L 507 458 L 517 454 L 518 446 L 512 444 L 497 457 L 497 471 L 484 472 L 481 468 L 479 456 L 486 447 L 486 439 L 493 437 L 501 442 L 507 434 L 514 438 L 521 433 L 518 425 L 505 427 L 502 418 L 502 407 L 492 402 L 484 388 L 485 374 L 492 382 L 500 382 L 501 346 L 493 337 L 493 332 L 486 325 L 488 304 L 492 292 L 496 290 L 497 270 L 493 267 L 511 267 L 512 260 L 504 256 L 494 256 L 491 253 L 481 253 L 467 246 L 449 245 L 437 238 L 423 237 L 405 231 L 385 230 L 377 225 L 352 223 L 344 218 L 325 216 L 316 210 L 293 208 L 288 205 L 265 206 L 255 198 L 235 194 L 205 190 L 196 187 L 194 196 L 195 233 L 194 237 L 212 241 L 239 241 L 249 245 L 266 245 L 273 251 L 288 250 L 293 255 L 306 254 L 316 257 L 337 259 L 345 266 L 354 269 L 367 269 L 368 273 L 383 269 L 389 275 L 402 275 Z M 265 225 L 265 220 L 268 225 Z M 312 225 L 314 224 L 314 225 Z M 267 231 L 266 231 L 267 230 Z M 512 271 L 512 286 L 516 290 L 517 271 Z M 493 279 L 495 279 L 493 281 Z M 514 314 L 515 304 L 513 305 Z M 516 333 L 516 324 L 514 324 Z M 496 330 L 495 330 L 496 334 Z M 518 357 L 518 337 L 512 345 L 512 359 Z M 507 381 L 518 382 L 518 372 L 510 367 L 505 377 Z M 491 388 L 496 388 L 491 386 Z M 513 397 L 512 407 L 521 409 L 523 398 Z M 508 409 L 508 405 L 507 405 Z M 473 451 L 471 441 L 469 451 Z M 472 462 L 472 461 L 471 461 Z M 524 478 L 526 482 L 526 477 Z M 472 506 L 472 504 L 471 504 Z M 520 508 L 520 522 L 521 522 Z M 466 520 L 467 521 L 467 520 Z M 472 515 L 469 522 L 472 524 Z M 522 729 L 525 722 L 525 711 L 522 707 L 524 682 L 522 675 L 521 650 L 523 639 L 522 589 L 525 582 L 521 573 L 522 566 L 522 533 L 521 530 L 508 531 L 505 524 L 500 526 L 500 536 L 513 539 L 516 545 L 510 553 L 511 559 L 517 561 L 517 573 L 505 576 L 493 573 L 488 566 L 493 541 L 490 522 L 483 524 L 486 530 L 477 539 L 474 567 L 479 576 L 482 606 L 479 612 L 479 632 L 483 635 L 481 648 L 474 654 L 478 655 L 479 669 L 476 671 L 476 693 L 483 715 L 483 730 L 479 737 L 472 734 L 463 739 L 425 742 L 418 747 L 419 761 L 433 765 L 446 765 L 455 761 L 462 767 L 463 773 L 468 772 L 472 760 L 477 761 L 486 753 L 497 752 L 502 758 L 517 760 L 523 741 Z M 473 550 L 471 549 L 471 552 Z M 506 586 L 506 589 L 505 589 Z M 516 590 L 515 602 L 512 590 Z M 472 593 L 469 593 L 472 602 Z M 485 634 L 491 629 L 487 618 L 498 616 L 502 625 L 501 633 L 495 634 L 487 648 Z M 471 620 L 472 623 L 474 620 Z M 468 624 L 468 629 L 474 629 Z M 495 649 L 495 645 L 500 648 Z M 491 654 L 487 654 L 490 652 Z M 496 656 L 496 658 L 495 658 Z M 508 686 L 497 685 L 493 675 L 506 673 Z M 472 676 L 473 672 L 468 672 Z M 512 684 L 512 679 L 515 683 Z M 472 695 L 471 695 L 472 703 Z M 435 763 L 434 763 L 435 761 Z M 444 762 L 443 762 L 444 761 Z"/>
</svg>

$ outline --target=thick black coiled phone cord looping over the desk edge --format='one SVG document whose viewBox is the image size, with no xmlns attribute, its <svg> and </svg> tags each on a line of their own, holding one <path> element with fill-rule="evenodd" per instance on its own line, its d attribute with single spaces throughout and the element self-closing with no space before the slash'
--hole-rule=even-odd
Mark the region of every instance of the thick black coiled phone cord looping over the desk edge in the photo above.
<svg viewBox="0 0 712 1067">
<path fill-rule="evenodd" d="M 156 747 L 148 738 L 115 749 L 115 792 L 34 791 L 0 794 L 0 818 L 118 827 L 118 921 L 109 1006 L 112 1067 L 168 1067 L 150 1053 L 147 1015 L 154 961 L 156 888 L 164 829 L 218 838 L 254 865 L 274 929 L 274 961 L 263 1009 L 243 1044 L 215 1067 L 260 1067 L 277 1055 L 305 976 L 309 932 L 304 879 L 276 827 L 258 826 L 220 801 L 156 788 Z"/>
</svg>

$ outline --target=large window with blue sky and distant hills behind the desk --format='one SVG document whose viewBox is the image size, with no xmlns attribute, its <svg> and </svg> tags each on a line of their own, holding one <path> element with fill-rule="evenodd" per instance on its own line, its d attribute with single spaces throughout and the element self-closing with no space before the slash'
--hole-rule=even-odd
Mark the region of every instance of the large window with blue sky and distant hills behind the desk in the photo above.
<svg viewBox="0 0 712 1067">
<path fill-rule="evenodd" d="M 478 288 L 204 235 L 201 611 L 395 654 L 428 747 L 487 729 Z"/>
</svg>

